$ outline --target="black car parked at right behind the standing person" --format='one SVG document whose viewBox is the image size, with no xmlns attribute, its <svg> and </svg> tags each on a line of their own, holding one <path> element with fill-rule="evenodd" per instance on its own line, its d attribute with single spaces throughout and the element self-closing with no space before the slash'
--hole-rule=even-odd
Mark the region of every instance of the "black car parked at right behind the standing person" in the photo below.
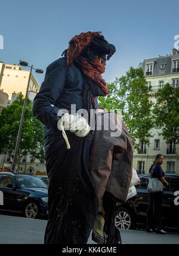
<svg viewBox="0 0 179 256">
<path fill-rule="evenodd" d="M 129 198 L 126 203 L 117 205 L 115 225 L 118 228 L 135 229 L 141 224 L 146 226 L 146 213 L 149 207 L 147 184 L 150 174 L 140 174 L 139 177 L 141 182 L 135 186 L 137 195 Z M 179 195 L 179 173 L 165 173 L 165 178 L 169 186 L 163 189 L 162 224 L 165 228 L 176 228 L 179 231 L 179 205 L 176 204 L 177 196 L 174 195 L 175 191 L 178 191 Z"/>
</svg>

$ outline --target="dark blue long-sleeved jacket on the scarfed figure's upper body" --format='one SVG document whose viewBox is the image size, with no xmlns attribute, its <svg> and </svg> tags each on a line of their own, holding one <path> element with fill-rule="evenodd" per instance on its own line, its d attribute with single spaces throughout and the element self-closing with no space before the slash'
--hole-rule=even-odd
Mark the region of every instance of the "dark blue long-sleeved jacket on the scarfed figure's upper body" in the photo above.
<svg viewBox="0 0 179 256">
<path fill-rule="evenodd" d="M 44 124 L 45 155 L 60 135 L 58 110 L 66 109 L 70 113 L 71 104 L 76 105 L 76 111 L 82 109 L 83 86 L 81 71 L 75 65 L 67 67 L 66 58 L 57 59 L 47 67 L 45 80 L 33 101 L 33 115 Z"/>
</svg>

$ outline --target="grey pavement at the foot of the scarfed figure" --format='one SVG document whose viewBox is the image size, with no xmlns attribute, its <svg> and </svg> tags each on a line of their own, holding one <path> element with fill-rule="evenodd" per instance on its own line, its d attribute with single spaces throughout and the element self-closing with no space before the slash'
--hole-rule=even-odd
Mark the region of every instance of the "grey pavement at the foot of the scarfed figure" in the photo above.
<svg viewBox="0 0 179 256">
<path fill-rule="evenodd" d="M 47 221 L 0 215 L 0 244 L 42 244 Z M 179 244 L 179 234 L 155 234 L 122 230 L 124 244 Z M 91 237 L 88 244 L 94 244 Z"/>
</svg>

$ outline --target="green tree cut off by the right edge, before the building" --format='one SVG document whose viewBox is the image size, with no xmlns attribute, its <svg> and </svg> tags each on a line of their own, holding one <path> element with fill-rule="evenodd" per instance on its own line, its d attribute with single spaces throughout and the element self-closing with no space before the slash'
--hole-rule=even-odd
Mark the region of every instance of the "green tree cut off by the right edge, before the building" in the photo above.
<svg viewBox="0 0 179 256">
<path fill-rule="evenodd" d="M 179 143 L 179 87 L 167 83 L 156 93 L 157 101 L 153 108 L 155 124 L 162 128 L 166 143 Z M 175 153 L 176 147 L 175 147 Z"/>
</svg>

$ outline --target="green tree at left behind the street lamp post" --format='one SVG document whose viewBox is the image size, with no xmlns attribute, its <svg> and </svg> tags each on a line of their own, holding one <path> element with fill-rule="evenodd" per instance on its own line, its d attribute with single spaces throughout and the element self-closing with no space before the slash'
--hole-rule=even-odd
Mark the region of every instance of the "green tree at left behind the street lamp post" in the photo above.
<svg viewBox="0 0 179 256">
<path fill-rule="evenodd" d="M 0 112 L 0 150 L 2 153 L 11 156 L 11 158 L 14 158 L 23 101 L 23 95 L 20 93 L 13 104 L 1 109 Z M 21 132 L 17 168 L 19 168 L 21 158 L 27 154 L 41 161 L 44 160 L 44 132 L 42 124 L 36 118 L 33 118 L 32 106 L 29 99 L 27 99 Z"/>
</svg>

